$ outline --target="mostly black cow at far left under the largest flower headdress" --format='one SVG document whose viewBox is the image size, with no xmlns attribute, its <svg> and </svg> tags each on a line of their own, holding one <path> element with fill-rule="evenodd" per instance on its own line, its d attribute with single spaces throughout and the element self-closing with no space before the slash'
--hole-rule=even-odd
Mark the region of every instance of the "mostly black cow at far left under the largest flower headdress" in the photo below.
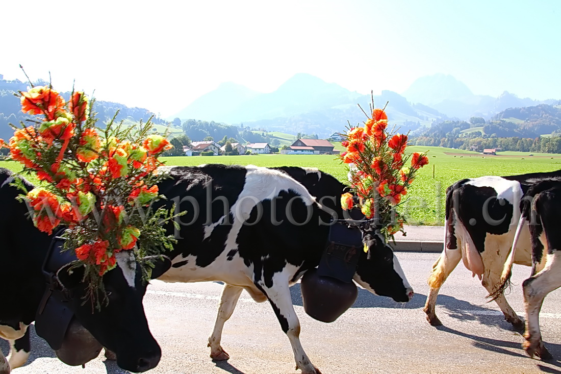
<svg viewBox="0 0 561 374">
<path fill-rule="evenodd" d="M 45 291 L 42 264 L 51 236 L 40 232 L 27 217 L 27 207 L 15 198 L 21 191 L 11 186 L 12 174 L 0 168 L 0 337 L 10 341 L 10 356 L 0 352 L 0 373 L 10 367 L 22 366 L 29 357 L 29 330 L 35 320 Z M 33 185 L 24 180 L 28 190 Z M 92 312 L 84 303 L 85 286 L 81 283 L 82 269 L 71 275 L 59 272 L 61 282 L 72 294 L 71 308 L 77 320 L 105 347 L 117 354 L 117 364 L 125 370 L 141 372 L 154 368 L 161 350 L 148 329 L 142 308 L 146 284 L 142 282 L 140 266 L 126 252 L 118 254 L 118 266 L 104 276 L 105 289 L 111 293 L 109 304 Z M 159 270 L 165 271 L 165 263 Z M 9 366 L 8 366 L 9 362 Z"/>
</svg>

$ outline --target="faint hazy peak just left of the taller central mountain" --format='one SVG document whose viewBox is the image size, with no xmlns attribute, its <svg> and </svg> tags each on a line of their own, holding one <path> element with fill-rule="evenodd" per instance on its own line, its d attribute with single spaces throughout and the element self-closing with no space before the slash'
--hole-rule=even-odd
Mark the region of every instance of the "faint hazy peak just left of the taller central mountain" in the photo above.
<svg viewBox="0 0 561 374">
<path fill-rule="evenodd" d="M 173 120 L 177 117 L 182 120 L 187 118 L 211 118 L 214 121 L 230 122 L 229 113 L 259 94 L 259 92 L 240 84 L 222 83 L 217 89 L 197 98 L 180 112 L 169 116 L 168 119 Z"/>
</svg>

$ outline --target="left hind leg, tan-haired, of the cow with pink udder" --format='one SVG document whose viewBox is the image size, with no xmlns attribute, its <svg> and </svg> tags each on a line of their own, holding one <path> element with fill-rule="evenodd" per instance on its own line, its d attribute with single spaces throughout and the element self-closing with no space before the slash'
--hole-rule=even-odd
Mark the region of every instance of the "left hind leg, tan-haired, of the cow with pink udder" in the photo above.
<svg viewBox="0 0 561 374">
<path fill-rule="evenodd" d="M 433 326 L 442 325 L 435 312 L 438 291 L 452 270 L 456 268 L 461 258 L 462 252 L 459 248 L 445 249 L 433 265 L 433 273 L 431 273 L 427 281 L 430 288 L 429 296 L 426 298 L 425 308 L 423 309 L 426 313 L 426 320 Z"/>
</svg>

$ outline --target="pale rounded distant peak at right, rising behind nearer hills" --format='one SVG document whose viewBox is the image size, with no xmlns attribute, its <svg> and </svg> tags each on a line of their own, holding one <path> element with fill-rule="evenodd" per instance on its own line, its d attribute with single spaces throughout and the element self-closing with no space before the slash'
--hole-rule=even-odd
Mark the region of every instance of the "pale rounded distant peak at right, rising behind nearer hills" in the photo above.
<svg viewBox="0 0 561 374">
<path fill-rule="evenodd" d="M 413 103 L 433 106 L 444 100 L 463 101 L 473 97 L 471 90 L 452 75 L 435 74 L 420 77 L 402 94 Z"/>
</svg>

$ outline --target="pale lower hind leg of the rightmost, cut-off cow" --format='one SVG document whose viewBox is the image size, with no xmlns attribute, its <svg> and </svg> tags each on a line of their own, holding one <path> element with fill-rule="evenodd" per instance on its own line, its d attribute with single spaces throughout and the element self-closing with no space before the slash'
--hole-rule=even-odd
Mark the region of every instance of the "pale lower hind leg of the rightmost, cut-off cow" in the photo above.
<svg viewBox="0 0 561 374">
<path fill-rule="evenodd" d="M 548 254 L 544 270 L 522 283 L 526 311 L 526 341 L 523 347 L 530 357 L 537 354 L 542 359 L 551 358 L 541 339 L 540 310 L 546 295 L 561 286 L 560 256 L 558 250 Z"/>
</svg>

